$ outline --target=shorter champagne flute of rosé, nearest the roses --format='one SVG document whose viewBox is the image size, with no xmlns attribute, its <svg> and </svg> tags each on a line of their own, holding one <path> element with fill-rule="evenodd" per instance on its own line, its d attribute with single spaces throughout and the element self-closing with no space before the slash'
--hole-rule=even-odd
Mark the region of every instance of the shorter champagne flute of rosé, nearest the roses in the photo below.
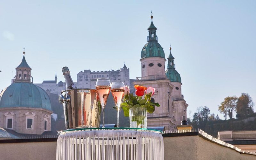
<svg viewBox="0 0 256 160">
<path fill-rule="evenodd" d="M 124 97 L 124 83 L 123 82 L 112 82 L 111 92 L 116 103 L 117 108 L 117 127 L 119 128 L 119 110 Z"/>
</svg>

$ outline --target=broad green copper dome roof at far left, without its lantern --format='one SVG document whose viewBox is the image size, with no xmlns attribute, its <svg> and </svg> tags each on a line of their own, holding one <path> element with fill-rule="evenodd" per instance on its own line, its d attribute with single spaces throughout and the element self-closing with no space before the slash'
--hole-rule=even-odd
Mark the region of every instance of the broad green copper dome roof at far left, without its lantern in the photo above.
<svg viewBox="0 0 256 160">
<path fill-rule="evenodd" d="M 16 82 L 0 93 L 0 108 L 30 107 L 52 110 L 50 98 L 40 87 L 28 82 Z"/>
</svg>

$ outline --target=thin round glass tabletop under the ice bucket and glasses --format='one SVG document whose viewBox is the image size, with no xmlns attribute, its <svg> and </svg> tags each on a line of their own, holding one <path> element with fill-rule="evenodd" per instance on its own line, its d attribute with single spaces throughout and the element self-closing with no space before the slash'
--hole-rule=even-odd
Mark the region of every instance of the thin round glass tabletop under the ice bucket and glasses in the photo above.
<svg viewBox="0 0 256 160">
<path fill-rule="evenodd" d="M 115 128 L 73 128 L 73 129 L 67 129 L 65 131 L 60 131 L 60 132 L 58 132 L 58 135 L 63 134 L 63 133 L 76 132 L 76 131 L 102 131 L 102 130 L 106 130 L 106 131 L 113 131 L 113 130 L 117 130 L 117 131 L 141 131 L 141 132 L 154 132 L 154 133 L 164 134 L 164 132 L 162 132 L 160 130 L 156 130 L 156 129 L 124 128 L 124 127 L 116 128 L 115 127 Z"/>
</svg>

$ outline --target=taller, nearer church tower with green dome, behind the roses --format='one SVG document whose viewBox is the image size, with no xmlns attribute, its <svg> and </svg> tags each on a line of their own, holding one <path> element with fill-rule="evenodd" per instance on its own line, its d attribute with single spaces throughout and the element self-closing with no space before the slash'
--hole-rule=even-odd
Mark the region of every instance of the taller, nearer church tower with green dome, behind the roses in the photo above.
<svg viewBox="0 0 256 160">
<path fill-rule="evenodd" d="M 166 130 L 175 128 L 172 111 L 172 90 L 174 86 L 165 75 L 165 55 L 162 46 L 158 43 L 156 27 L 151 24 L 148 27 L 148 43 L 141 51 L 141 77 L 137 77 L 134 85 L 156 88 L 152 96 L 152 102 L 158 102 L 161 107 L 155 107 L 155 112 L 148 113 L 148 127 L 164 126 Z"/>
</svg>

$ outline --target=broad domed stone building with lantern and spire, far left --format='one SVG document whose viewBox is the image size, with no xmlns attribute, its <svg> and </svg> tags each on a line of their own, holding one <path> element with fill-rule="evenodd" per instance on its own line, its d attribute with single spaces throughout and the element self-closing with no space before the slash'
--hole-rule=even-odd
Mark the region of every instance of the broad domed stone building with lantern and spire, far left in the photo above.
<svg viewBox="0 0 256 160">
<path fill-rule="evenodd" d="M 12 84 L 0 93 L 0 127 L 17 133 L 42 134 L 51 131 L 51 114 L 50 98 L 33 84 L 31 68 L 23 55 Z"/>
</svg>

